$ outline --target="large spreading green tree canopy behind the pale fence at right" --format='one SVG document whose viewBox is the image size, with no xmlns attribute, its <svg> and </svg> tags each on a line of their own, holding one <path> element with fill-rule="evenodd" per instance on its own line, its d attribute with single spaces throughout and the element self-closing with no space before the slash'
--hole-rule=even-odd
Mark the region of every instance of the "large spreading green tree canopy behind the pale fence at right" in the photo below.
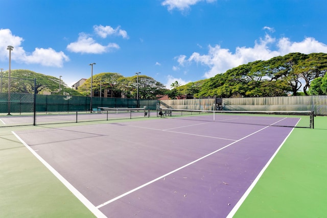
<svg viewBox="0 0 327 218">
<path fill-rule="evenodd" d="M 308 94 L 311 82 L 327 70 L 327 54 L 290 53 L 267 61 L 254 61 L 218 74 L 203 83 L 200 96 L 222 98 Z"/>
</svg>

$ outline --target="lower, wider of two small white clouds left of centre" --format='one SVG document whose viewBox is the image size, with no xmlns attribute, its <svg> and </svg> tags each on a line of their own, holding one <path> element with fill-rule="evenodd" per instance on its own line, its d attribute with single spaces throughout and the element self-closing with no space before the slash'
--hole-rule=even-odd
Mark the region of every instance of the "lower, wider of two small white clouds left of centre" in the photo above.
<svg viewBox="0 0 327 218">
<path fill-rule="evenodd" d="M 67 50 L 70 52 L 87 54 L 102 54 L 119 48 L 116 43 L 109 43 L 108 45 L 97 43 L 92 37 L 84 33 L 79 34 L 76 42 L 67 45 Z"/>
</svg>

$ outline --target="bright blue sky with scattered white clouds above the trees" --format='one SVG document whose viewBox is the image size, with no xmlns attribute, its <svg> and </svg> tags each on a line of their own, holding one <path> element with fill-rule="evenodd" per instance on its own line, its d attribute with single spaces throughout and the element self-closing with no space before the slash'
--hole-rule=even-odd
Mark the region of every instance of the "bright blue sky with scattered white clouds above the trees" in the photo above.
<svg viewBox="0 0 327 218">
<path fill-rule="evenodd" d="M 101 72 L 170 84 L 291 52 L 327 53 L 325 0 L 0 0 L 0 68 L 71 86 Z"/>
</svg>

